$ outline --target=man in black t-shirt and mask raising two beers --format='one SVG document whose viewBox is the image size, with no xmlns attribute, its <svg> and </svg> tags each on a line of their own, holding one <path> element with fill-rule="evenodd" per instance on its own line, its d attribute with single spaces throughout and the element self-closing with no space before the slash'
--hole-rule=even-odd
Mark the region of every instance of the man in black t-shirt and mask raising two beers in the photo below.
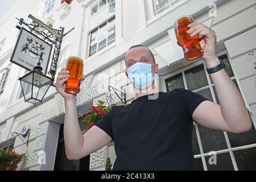
<svg viewBox="0 0 256 182">
<path fill-rule="evenodd" d="M 189 90 L 157 92 L 154 73 L 158 64 L 143 46 L 135 46 L 125 56 L 126 75 L 134 85 L 135 100 L 116 106 L 82 135 L 77 121 L 76 96 L 64 92 L 69 75 L 60 71 L 57 91 L 65 99 L 64 139 L 67 158 L 81 159 L 114 140 L 113 170 L 193 170 L 193 121 L 214 130 L 242 133 L 250 130 L 251 119 L 240 92 L 216 57 L 216 35 L 200 23 L 191 23 L 188 34 L 199 34 L 220 105 Z M 144 76 L 143 76 L 144 75 Z M 146 75 L 146 76 L 145 76 Z M 84 79 L 84 77 L 82 78 Z"/>
</svg>

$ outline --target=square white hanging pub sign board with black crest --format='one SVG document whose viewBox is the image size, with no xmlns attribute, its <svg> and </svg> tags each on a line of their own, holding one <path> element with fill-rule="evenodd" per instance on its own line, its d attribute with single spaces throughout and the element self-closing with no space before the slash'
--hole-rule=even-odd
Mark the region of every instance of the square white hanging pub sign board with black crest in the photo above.
<svg viewBox="0 0 256 182">
<path fill-rule="evenodd" d="M 50 44 L 22 28 L 10 61 L 28 71 L 32 71 L 40 62 L 40 66 L 43 68 L 42 72 L 47 75 L 51 52 Z"/>
</svg>

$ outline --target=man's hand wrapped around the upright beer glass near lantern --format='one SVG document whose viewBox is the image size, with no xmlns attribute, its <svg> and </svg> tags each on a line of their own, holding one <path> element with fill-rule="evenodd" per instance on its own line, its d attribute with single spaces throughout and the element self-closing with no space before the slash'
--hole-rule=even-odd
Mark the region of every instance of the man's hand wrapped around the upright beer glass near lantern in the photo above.
<svg viewBox="0 0 256 182">
<path fill-rule="evenodd" d="M 56 81 L 56 90 L 61 94 L 61 96 L 64 97 L 65 100 L 75 100 L 76 95 L 75 94 L 68 94 L 65 93 L 65 82 L 69 78 L 69 71 L 67 71 L 65 68 L 61 69 L 61 71 L 58 73 L 57 81 Z M 80 85 L 82 81 L 84 81 L 85 76 L 82 76 L 82 79 L 80 81 Z"/>
</svg>

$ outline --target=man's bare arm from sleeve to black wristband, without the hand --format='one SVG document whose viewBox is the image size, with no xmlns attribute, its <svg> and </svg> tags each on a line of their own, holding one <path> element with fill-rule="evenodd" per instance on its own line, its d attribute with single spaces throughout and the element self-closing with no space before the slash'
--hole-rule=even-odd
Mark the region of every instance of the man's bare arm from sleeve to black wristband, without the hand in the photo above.
<svg viewBox="0 0 256 182">
<path fill-rule="evenodd" d="M 222 69 L 210 76 L 216 88 L 220 105 L 210 101 L 202 102 L 194 111 L 193 120 L 205 127 L 232 133 L 250 130 L 250 115 L 240 92 L 228 74 Z"/>
</svg>

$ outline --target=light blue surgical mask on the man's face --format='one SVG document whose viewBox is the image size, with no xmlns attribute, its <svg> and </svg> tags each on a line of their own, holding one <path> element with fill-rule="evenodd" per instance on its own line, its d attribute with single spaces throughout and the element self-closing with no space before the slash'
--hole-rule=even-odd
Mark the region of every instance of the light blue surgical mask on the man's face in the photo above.
<svg viewBox="0 0 256 182">
<path fill-rule="evenodd" d="M 151 64 L 147 63 L 135 63 L 127 69 L 127 75 L 137 89 L 147 88 L 155 79 L 151 72 Z"/>
</svg>

